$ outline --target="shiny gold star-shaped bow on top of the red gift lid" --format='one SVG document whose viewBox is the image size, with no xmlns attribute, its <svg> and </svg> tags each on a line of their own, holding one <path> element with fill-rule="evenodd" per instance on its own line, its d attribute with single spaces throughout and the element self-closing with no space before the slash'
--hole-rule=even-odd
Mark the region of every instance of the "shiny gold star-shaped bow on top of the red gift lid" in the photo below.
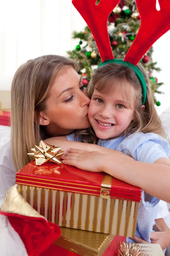
<svg viewBox="0 0 170 256">
<path fill-rule="evenodd" d="M 40 141 L 40 145 L 35 145 L 35 148 L 31 148 L 34 153 L 28 153 L 28 156 L 35 158 L 36 165 L 42 165 L 46 162 L 62 163 L 60 157 L 64 154 L 61 151 L 61 147 L 54 147 L 45 143 L 43 140 Z"/>
</svg>

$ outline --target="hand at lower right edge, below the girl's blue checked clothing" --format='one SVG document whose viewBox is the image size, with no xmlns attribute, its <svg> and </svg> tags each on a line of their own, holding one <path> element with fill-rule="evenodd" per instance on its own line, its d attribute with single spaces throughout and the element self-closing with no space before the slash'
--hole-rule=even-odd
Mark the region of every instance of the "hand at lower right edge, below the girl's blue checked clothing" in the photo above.
<svg viewBox="0 0 170 256">
<path fill-rule="evenodd" d="M 138 236 L 135 236 L 133 240 L 139 244 L 150 244 Z M 152 244 L 160 244 L 162 250 L 164 250 L 170 245 L 170 231 L 150 232 L 150 240 Z"/>
</svg>

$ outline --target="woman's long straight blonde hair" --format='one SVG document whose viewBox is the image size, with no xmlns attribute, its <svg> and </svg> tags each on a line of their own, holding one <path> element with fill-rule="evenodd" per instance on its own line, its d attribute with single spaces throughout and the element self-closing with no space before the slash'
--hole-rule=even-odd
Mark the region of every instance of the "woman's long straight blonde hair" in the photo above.
<svg viewBox="0 0 170 256">
<path fill-rule="evenodd" d="M 77 62 L 71 59 L 44 55 L 27 61 L 14 75 L 11 87 L 11 146 L 16 171 L 30 162 L 27 153 L 45 138 L 45 127 L 39 123 L 40 111 L 45 110 L 55 78 L 68 66 L 79 70 Z"/>
</svg>

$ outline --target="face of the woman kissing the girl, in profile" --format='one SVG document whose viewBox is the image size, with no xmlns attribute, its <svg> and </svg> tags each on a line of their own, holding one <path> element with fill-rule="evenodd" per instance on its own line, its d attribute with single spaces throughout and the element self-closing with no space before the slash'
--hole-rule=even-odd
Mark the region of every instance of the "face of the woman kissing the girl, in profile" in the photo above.
<svg viewBox="0 0 170 256">
<path fill-rule="evenodd" d="M 46 109 L 40 113 L 40 125 L 47 125 L 51 136 L 88 128 L 89 103 L 81 77 L 72 67 L 67 67 L 50 89 Z"/>
</svg>

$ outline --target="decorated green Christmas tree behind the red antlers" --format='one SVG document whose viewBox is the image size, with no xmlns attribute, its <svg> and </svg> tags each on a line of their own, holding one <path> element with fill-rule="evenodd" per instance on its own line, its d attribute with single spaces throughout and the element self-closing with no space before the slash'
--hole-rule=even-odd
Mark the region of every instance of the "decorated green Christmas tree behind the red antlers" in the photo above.
<svg viewBox="0 0 170 256">
<path fill-rule="evenodd" d="M 137 35 L 139 27 L 140 15 L 135 0 L 120 0 L 108 17 L 108 34 L 115 58 L 124 58 Z M 68 51 L 68 55 L 79 62 L 81 68 L 79 73 L 82 76 L 82 83 L 88 85 L 96 67 L 101 62 L 99 51 L 88 26 L 82 32 L 74 32 L 73 38 L 79 39 L 79 44 L 73 51 Z M 158 79 L 153 77 L 153 71 L 160 71 L 160 68 L 156 67 L 157 62 L 153 61 L 152 53 L 153 47 L 147 51 L 140 62 L 142 62 L 145 70 L 147 70 L 153 93 L 161 93 L 159 87 L 163 83 L 159 83 Z M 155 96 L 154 101 L 157 106 L 161 105 Z"/>
</svg>

